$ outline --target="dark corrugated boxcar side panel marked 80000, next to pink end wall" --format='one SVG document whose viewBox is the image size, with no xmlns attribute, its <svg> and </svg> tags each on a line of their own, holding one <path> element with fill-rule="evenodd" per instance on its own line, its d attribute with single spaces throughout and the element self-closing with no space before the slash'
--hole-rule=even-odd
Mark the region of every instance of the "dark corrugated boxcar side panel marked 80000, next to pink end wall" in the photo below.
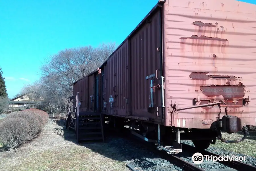
<svg viewBox="0 0 256 171">
<path fill-rule="evenodd" d="M 153 15 L 151 22 L 131 38 L 131 114 L 137 117 L 156 118 L 156 110 L 148 113 L 148 108 L 151 106 L 151 80 L 154 80 L 154 86 L 161 84 L 162 59 L 161 51 L 157 51 L 157 48 L 161 49 L 160 14 L 158 11 Z M 156 79 L 156 70 L 159 79 Z M 154 107 L 161 107 L 160 89 L 155 89 L 153 103 Z M 161 117 L 161 113 L 158 114 Z"/>
</svg>

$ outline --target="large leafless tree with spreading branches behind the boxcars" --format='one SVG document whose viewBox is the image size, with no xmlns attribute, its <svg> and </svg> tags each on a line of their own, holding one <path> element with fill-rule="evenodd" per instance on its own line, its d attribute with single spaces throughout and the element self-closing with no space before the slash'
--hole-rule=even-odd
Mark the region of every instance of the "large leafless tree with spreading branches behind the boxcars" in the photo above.
<svg viewBox="0 0 256 171">
<path fill-rule="evenodd" d="M 64 111 L 68 97 L 73 95 L 73 82 L 96 70 L 115 48 L 115 43 L 108 43 L 97 48 L 85 46 L 61 50 L 41 67 L 40 80 L 25 86 L 22 93 L 40 95 L 44 99 L 40 105 L 48 113 Z"/>
</svg>

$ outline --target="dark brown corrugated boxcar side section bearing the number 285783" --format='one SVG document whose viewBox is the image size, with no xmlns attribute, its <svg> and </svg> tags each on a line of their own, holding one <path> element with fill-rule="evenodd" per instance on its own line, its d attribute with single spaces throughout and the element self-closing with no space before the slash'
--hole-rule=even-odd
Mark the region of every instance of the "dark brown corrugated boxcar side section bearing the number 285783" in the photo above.
<svg viewBox="0 0 256 171">
<path fill-rule="evenodd" d="M 107 113 L 128 115 L 128 40 L 107 61 L 104 75 Z"/>
</svg>

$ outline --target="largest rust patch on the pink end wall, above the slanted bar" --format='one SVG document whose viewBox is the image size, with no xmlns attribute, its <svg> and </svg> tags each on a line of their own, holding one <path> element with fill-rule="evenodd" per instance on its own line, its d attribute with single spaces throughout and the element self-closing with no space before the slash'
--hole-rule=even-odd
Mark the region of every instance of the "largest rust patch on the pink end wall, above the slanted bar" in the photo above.
<svg viewBox="0 0 256 171">
<path fill-rule="evenodd" d="M 211 85 L 200 86 L 201 92 L 207 97 L 222 95 L 225 100 L 234 98 L 243 98 L 245 95 L 244 85 L 240 82 L 238 85 Z"/>
</svg>

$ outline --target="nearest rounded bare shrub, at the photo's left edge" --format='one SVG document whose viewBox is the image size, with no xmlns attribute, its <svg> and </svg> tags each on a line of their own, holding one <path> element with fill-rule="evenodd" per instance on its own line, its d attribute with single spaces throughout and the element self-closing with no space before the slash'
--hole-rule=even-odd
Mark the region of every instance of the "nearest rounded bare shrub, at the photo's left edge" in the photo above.
<svg viewBox="0 0 256 171">
<path fill-rule="evenodd" d="M 0 123 L 0 142 L 13 150 L 30 139 L 29 123 L 22 118 L 5 118 Z"/>
</svg>

